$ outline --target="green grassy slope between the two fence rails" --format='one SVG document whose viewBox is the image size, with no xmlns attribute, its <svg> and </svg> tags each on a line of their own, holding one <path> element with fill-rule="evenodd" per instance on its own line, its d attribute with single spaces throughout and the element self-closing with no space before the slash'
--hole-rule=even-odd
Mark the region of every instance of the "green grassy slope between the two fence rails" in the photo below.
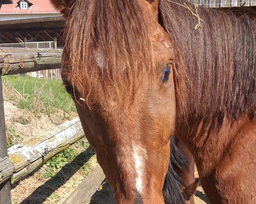
<svg viewBox="0 0 256 204">
<path fill-rule="evenodd" d="M 7 99 L 17 102 L 17 107 L 32 112 L 54 113 L 60 109 L 64 113 L 76 112 L 76 107 L 61 80 L 37 79 L 17 75 L 4 76 L 3 85 L 13 88 L 19 97 L 12 94 Z"/>
</svg>

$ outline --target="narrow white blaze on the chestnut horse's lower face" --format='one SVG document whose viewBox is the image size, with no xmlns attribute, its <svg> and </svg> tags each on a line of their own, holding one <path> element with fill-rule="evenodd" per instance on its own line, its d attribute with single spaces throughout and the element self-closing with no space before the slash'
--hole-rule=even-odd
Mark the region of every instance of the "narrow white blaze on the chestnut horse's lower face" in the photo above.
<svg viewBox="0 0 256 204">
<path fill-rule="evenodd" d="M 135 170 L 137 173 L 136 188 L 139 193 L 142 193 L 143 177 L 144 177 L 143 156 L 146 156 L 145 150 L 142 147 L 136 146 L 135 144 L 133 144 L 132 146 L 133 146 L 133 151 L 134 151 Z"/>
</svg>

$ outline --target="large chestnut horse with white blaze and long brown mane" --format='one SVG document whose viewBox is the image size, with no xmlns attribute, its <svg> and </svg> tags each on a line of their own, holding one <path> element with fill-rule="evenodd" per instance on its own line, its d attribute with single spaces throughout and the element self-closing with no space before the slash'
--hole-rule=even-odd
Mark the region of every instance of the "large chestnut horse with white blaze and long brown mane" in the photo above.
<svg viewBox="0 0 256 204">
<path fill-rule="evenodd" d="M 175 134 L 212 203 L 254 204 L 256 24 L 184 2 L 52 0 L 64 85 L 118 203 L 181 195 L 175 173 L 192 169 L 169 165 Z"/>
</svg>

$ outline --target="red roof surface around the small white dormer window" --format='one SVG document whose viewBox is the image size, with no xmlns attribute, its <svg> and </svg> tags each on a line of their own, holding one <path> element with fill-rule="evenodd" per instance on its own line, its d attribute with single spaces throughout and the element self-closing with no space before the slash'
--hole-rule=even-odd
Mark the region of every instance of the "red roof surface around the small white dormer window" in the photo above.
<svg viewBox="0 0 256 204">
<path fill-rule="evenodd" d="M 4 4 L 0 9 L 0 14 L 51 14 L 58 13 L 58 11 L 52 6 L 50 0 L 29 0 L 31 3 L 28 9 L 20 9 L 18 6 L 20 0 L 16 0 L 12 4 Z"/>
</svg>

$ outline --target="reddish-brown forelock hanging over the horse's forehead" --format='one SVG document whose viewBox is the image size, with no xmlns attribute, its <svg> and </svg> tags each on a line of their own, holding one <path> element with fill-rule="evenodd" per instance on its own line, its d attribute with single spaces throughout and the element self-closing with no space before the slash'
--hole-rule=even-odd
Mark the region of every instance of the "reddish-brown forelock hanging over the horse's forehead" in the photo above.
<svg viewBox="0 0 256 204">
<path fill-rule="evenodd" d="M 113 85 L 124 100 L 154 73 L 150 28 L 137 0 L 76 0 L 65 30 L 68 69 L 81 93 L 102 83 Z M 96 63 L 97 50 L 103 68 Z"/>
</svg>

